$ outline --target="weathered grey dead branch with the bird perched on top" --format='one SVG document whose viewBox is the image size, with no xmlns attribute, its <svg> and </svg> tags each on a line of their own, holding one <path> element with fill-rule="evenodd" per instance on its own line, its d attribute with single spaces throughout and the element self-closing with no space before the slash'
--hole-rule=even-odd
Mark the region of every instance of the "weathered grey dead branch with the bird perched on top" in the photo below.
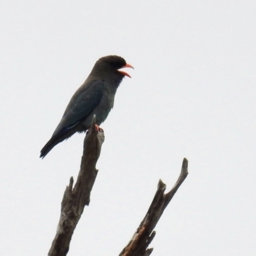
<svg viewBox="0 0 256 256">
<path fill-rule="evenodd" d="M 98 173 L 95 166 L 103 142 L 104 132 L 96 131 L 94 115 L 90 131 L 84 138 L 83 157 L 76 185 L 73 188 L 74 179 L 71 177 L 63 195 L 60 221 L 49 256 L 65 256 L 68 253 L 72 234 L 81 218 L 84 206 L 90 203 L 90 193 Z"/>
</svg>

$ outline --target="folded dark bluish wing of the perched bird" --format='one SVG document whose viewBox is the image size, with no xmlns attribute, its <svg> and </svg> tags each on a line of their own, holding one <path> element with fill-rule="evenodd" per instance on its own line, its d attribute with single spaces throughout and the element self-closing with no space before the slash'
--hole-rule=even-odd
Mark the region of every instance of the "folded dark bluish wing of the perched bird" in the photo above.
<svg viewBox="0 0 256 256">
<path fill-rule="evenodd" d="M 61 136 L 90 115 L 100 103 L 103 91 L 104 81 L 91 81 L 81 91 L 77 91 L 70 100 L 60 124 L 52 136 Z"/>
</svg>

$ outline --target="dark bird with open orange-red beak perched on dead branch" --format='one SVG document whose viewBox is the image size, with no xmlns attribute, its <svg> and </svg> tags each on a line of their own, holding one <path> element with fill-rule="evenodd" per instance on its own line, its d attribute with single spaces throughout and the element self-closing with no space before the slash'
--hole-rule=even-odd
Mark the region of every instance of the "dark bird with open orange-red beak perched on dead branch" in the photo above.
<svg viewBox="0 0 256 256">
<path fill-rule="evenodd" d="M 65 112 L 52 134 L 51 139 L 40 152 L 42 159 L 63 140 L 76 132 L 86 132 L 96 115 L 97 129 L 108 117 L 114 106 L 115 93 L 125 76 L 129 74 L 120 68 L 133 68 L 124 58 L 109 55 L 96 61 L 84 83 L 74 93 Z"/>
</svg>

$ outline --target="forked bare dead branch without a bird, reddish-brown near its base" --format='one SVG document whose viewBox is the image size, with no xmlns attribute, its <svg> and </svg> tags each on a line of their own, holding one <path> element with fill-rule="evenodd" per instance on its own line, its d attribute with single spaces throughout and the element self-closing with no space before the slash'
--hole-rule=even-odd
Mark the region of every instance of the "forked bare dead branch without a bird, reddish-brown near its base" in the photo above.
<svg viewBox="0 0 256 256">
<path fill-rule="evenodd" d="M 132 236 L 131 241 L 129 241 L 119 256 L 148 256 L 152 253 L 153 248 L 148 249 L 148 245 L 152 242 L 154 236 L 156 235 L 156 232 L 153 230 L 161 218 L 164 209 L 170 203 L 173 196 L 187 176 L 188 160 L 184 158 L 179 179 L 168 193 L 164 194 L 166 185 L 162 182 L 162 180 L 159 180 L 156 195 L 153 198 L 145 218 L 143 221 L 141 221 L 140 227 L 138 227 L 135 234 Z"/>
</svg>

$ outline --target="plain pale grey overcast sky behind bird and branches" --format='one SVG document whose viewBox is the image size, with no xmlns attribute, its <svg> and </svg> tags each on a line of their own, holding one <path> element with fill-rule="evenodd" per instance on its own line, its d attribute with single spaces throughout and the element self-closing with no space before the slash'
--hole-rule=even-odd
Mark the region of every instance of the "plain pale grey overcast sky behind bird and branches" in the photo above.
<svg viewBox="0 0 256 256">
<path fill-rule="evenodd" d="M 255 13 L 252 0 L 2 0 L 0 254 L 47 255 L 84 134 L 44 160 L 40 149 L 95 61 L 116 54 L 134 70 L 101 125 L 99 174 L 68 255 L 118 255 L 186 157 L 152 255 L 254 256 Z"/>
</svg>

